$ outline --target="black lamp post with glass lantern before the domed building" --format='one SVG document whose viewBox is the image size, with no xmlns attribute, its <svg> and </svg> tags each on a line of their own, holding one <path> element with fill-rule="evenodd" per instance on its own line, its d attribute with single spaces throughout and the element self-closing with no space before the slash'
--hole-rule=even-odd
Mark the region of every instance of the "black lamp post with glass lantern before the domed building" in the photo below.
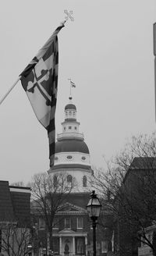
<svg viewBox="0 0 156 256">
<path fill-rule="evenodd" d="M 97 218 L 101 212 L 101 203 L 93 190 L 90 194 L 90 201 L 87 204 L 87 212 L 92 220 L 93 226 L 93 255 L 96 256 L 96 226 L 97 226 Z"/>
</svg>

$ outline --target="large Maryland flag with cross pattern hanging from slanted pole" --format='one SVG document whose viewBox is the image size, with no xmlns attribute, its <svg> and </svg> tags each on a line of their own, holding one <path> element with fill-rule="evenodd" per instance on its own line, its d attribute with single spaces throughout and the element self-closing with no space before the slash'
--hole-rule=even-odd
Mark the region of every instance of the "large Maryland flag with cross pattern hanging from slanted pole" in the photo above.
<svg viewBox="0 0 156 256">
<path fill-rule="evenodd" d="M 39 122 L 48 131 L 50 166 L 55 155 L 55 108 L 58 88 L 58 27 L 20 74 L 23 89 Z"/>
</svg>

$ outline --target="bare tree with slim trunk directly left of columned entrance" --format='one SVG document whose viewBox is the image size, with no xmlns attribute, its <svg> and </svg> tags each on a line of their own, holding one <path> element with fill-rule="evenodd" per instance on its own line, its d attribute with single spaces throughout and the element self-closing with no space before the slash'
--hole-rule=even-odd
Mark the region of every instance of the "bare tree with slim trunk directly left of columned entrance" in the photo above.
<svg viewBox="0 0 156 256">
<path fill-rule="evenodd" d="M 32 210 L 34 215 L 38 215 L 44 220 L 48 234 L 48 250 L 53 251 L 52 233 L 55 226 L 55 215 L 75 185 L 74 180 L 67 181 L 65 173 L 51 176 L 47 172 L 43 172 L 34 175 L 31 183 Z"/>
</svg>

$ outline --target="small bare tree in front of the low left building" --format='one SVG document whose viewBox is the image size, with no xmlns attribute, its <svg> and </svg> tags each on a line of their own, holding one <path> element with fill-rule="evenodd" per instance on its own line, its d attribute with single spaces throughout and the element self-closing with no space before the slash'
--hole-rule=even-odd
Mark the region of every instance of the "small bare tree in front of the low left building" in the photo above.
<svg viewBox="0 0 156 256">
<path fill-rule="evenodd" d="M 30 229 L 9 223 L 2 227 L 2 251 L 9 256 L 25 256 L 30 252 Z"/>
</svg>

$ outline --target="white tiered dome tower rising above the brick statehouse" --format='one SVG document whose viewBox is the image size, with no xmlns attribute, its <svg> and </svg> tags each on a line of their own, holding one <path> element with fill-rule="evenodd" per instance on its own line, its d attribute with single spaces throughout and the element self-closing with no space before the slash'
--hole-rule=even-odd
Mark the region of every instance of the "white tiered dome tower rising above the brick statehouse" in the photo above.
<svg viewBox="0 0 156 256">
<path fill-rule="evenodd" d="M 76 105 L 69 97 L 65 107 L 65 120 L 62 122 L 62 133 L 57 136 L 55 144 L 55 164 L 48 173 L 55 176 L 58 172 L 67 173 L 67 181 L 74 181 L 74 192 L 88 191 L 92 169 L 90 151 L 79 131 L 80 123 L 76 120 Z"/>
</svg>

